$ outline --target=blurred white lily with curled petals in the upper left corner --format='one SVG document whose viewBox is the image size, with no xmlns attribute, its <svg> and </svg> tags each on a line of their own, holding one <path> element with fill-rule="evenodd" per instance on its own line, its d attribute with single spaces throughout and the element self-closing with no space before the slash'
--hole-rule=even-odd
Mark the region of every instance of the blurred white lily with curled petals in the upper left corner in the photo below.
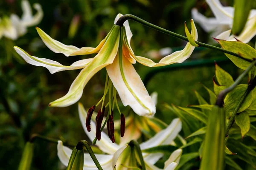
<svg viewBox="0 0 256 170">
<path fill-rule="evenodd" d="M 35 3 L 33 5 L 37 13 L 33 16 L 32 9 L 27 0 L 21 1 L 21 8 L 23 15 L 19 18 L 16 14 L 11 14 L 10 17 L 3 17 L 0 19 L 0 38 L 6 37 L 12 40 L 16 40 L 18 37 L 26 34 L 27 27 L 38 25 L 43 16 L 43 10 L 41 5 Z"/>
</svg>

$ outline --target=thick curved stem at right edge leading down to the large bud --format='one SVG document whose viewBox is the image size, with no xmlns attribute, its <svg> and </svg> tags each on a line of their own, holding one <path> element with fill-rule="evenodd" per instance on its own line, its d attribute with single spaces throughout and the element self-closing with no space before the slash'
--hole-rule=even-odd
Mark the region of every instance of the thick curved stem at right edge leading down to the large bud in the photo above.
<svg viewBox="0 0 256 170">
<path fill-rule="evenodd" d="M 242 79 L 249 73 L 250 69 L 253 68 L 253 66 L 256 64 L 256 60 L 254 60 L 247 68 L 246 70 L 236 79 L 236 81 L 229 87 L 224 89 L 218 94 L 217 101 L 215 105 L 218 105 L 219 107 L 223 107 L 223 101 L 224 97 L 227 93 L 232 91 L 234 88 L 236 88 L 237 85 L 242 81 Z"/>
</svg>

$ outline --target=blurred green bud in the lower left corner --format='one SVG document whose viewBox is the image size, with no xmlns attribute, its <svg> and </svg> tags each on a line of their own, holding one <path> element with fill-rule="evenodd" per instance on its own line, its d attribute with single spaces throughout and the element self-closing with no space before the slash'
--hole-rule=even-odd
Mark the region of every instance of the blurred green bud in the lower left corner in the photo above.
<svg viewBox="0 0 256 170">
<path fill-rule="evenodd" d="M 34 144 L 26 142 L 18 170 L 29 170 L 33 158 Z"/>
</svg>

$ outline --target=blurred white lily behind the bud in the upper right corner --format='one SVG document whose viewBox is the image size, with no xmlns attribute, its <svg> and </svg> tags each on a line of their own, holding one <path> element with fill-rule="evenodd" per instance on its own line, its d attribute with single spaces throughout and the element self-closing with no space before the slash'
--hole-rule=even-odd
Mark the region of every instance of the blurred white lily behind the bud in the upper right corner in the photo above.
<svg viewBox="0 0 256 170">
<path fill-rule="evenodd" d="M 192 9 L 192 18 L 198 22 L 206 32 L 212 32 L 212 37 L 222 40 L 247 43 L 256 35 L 256 9 L 250 10 L 247 23 L 239 36 L 230 35 L 233 25 L 234 8 L 222 6 L 219 0 L 206 0 L 212 10 L 214 17 L 207 18 L 199 13 L 196 8 Z M 236 39 L 235 39 L 235 38 Z"/>
</svg>

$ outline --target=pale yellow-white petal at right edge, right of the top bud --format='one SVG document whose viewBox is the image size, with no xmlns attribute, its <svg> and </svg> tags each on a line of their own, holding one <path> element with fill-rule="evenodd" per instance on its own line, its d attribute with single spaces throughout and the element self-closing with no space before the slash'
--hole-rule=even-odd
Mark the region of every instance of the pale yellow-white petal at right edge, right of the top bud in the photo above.
<svg viewBox="0 0 256 170">
<path fill-rule="evenodd" d="M 239 40 L 248 43 L 256 35 L 256 15 L 247 21 L 243 31 L 239 36 L 231 35 L 229 41 Z M 234 38 L 236 37 L 236 39 Z"/>
</svg>

